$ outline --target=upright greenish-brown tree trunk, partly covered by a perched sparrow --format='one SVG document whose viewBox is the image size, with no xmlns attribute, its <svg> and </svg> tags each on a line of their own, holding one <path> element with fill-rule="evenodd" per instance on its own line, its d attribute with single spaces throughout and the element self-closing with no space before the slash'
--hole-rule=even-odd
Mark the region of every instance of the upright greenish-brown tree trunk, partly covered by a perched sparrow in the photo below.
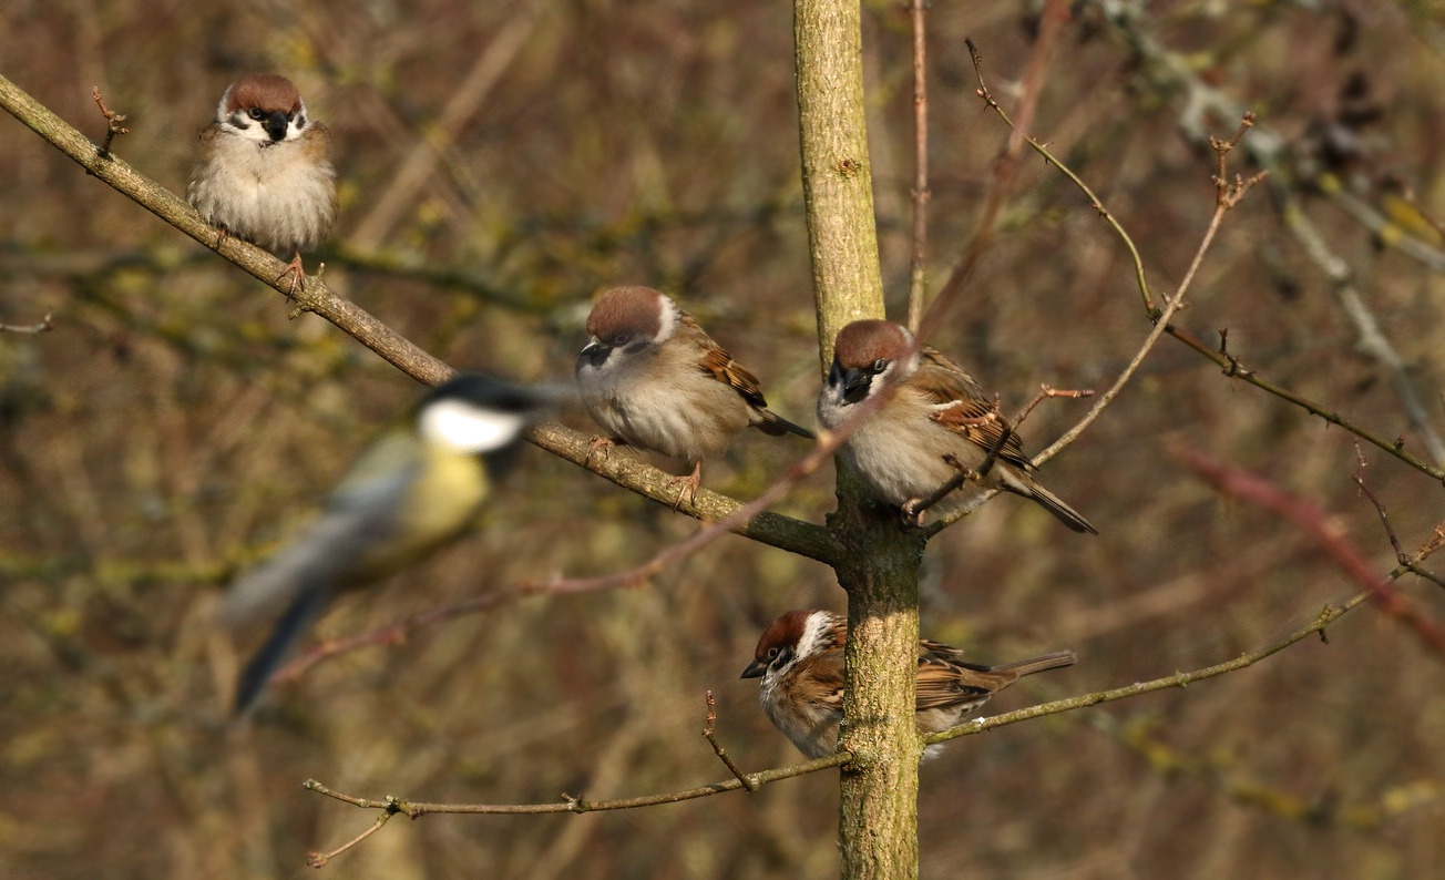
<svg viewBox="0 0 1445 880">
<path fill-rule="evenodd" d="M 796 0 L 798 110 L 803 198 L 812 253 L 822 368 L 850 321 L 883 316 L 863 105 L 858 0 Z M 838 842 L 845 880 L 918 876 L 918 759 L 913 722 L 918 662 L 918 564 L 923 539 L 863 504 L 840 473 L 828 517 L 844 548 L 838 584 L 848 592 L 847 727 L 854 762 L 842 769 Z"/>
</svg>

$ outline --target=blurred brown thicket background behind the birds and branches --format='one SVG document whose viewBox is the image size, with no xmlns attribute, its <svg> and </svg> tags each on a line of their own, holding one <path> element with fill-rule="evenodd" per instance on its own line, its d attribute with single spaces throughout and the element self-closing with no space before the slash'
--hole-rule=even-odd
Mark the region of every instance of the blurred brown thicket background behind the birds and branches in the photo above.
<svg viewBox="0 0 1445 880">
<path fill-rule="evenodd" d="M 1006 136 L 974 95 L 962 39 L 1012 104 L 1030 10 L 931 13 L 935 285 Z M 1140 33 L 1314 163 L 1292 166 L 1303 208 L 1445 428 L 1441 279 L 1308 188 L 1331 171 L 1387 208 L 1381 181 L 1400 175 L 1445 212 L 1438 23 L 1367 3 L 1163 3 L 1147 16 Z M 907 19 L 867 3 L 864 22 L 884 277 L 902 316 Z M 290 75 L 338 144 L 328 282 L 451 364 L 568 379 L 590 296 L 647 283 L 759 373 L 775 409 L 811 423 L 818 355 L 788 4 L 13 0 L 0 23 L 0 72 L 97 140 L 100 85 L 129 114 L 117 152 L 176 191 L 234 75 Z M 1212 205 L 1212 159 L 1181 137 L 1182 104 L 1085 4 L 1035 126 L 1136 236 L 1162 290 L 1182 277 Z M 744 767 L 798 757 L 757 711 L 756 683 L 737 676 L 776 613 L 842 608 L 844 597 L 827 568 L 737 538 L 639 590 L 535 598 L 348 653 L 279 688 L 251 731 L 224 730 L 234 657 L 207 626 L 215 598 L 419 389 L 318 318 L 288 321 L 275 292 L 9 118 L 0 158 L 0 322 L 46 311 L 56 322 L 0 335 L 0 876 L 311 876 L 308 850 L 373 818 L 303 792 L 311 776 L 363 796 L 475 802 L 724 779 L 698 736 L 707 689 Z M 1406 234 L 1439 246 L 1423 224 Z M 1390 374 L 1360 353 L 1264 189 L 1228 217 L 1179 322 L 1209 341 L 1227 327 L 1251 368 L 1426 454 Z M 1147 329 L 1117 238 L 1029 158 L 968 301 L 933 341 L 1009 412 L 1040 381 L 1105 387 Z M 1042 406 L 1029 445 L 1082 412 Z M 585 416 L 568 422 L 588 429 Z M 1029 679 L 991 709 L 1230 659 L 1353 592 L 1293 526 L 1186 473 L 1163 451 L 1169 436 L 1314 499 L 1380 572 L 1394 565 L 1350 481 L 1347 432 L 1165 340 L 1046 468 L 1100 538 L 1000 499 L 931 548 L 925 631 L 981 660 L 1079 653 L 1075 669 Z M 802 451 L 749 436 L 704 481 L 750 497 Z M 1413 549 L 1445 514 L 1441 487 L 1366 457 Z M 780 509 L 821 522 L 831 474 Z M 618 571 L 694 529 L 529 448 L 480 533 L 344 598 L 318 636 L 519 579 Z M 1439 587 L 1407 578 L 1402 590 L 1445 614 Z M 1328 644 L 955 743 L 922 772 L 922 874 L 1436 876 L 1441 660 L 1363 607 Z M 835 780 L 587 816 L 399 819 L 325 871 L 829 877 Z"/>
</svg>

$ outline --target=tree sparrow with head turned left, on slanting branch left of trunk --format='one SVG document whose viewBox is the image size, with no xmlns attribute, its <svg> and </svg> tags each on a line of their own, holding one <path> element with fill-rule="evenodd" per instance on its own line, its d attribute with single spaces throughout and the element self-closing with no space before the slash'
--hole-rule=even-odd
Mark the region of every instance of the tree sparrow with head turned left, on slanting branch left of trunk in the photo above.
<svg viewBox="0 0 1445 880">
<path fill-rule="evenodd" d="M 678 503 L 698 496 L 702 460 L 722 452 L 747 426 L 764 433 L 814 433 L 766 409 L 757 379 L 718 347 L 672 298 L 650 288 L 614 288 L 587 318 L 577 384 L 592 420 L 611 438 L 694 464 L 676 477 Z"/>
</svg>

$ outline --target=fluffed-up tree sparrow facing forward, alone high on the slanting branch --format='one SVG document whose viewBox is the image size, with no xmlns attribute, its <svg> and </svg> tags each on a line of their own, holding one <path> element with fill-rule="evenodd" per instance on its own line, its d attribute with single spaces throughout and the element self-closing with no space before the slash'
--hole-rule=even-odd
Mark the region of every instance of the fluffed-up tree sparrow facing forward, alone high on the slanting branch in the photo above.
<svg viewBox="0 0 1445 880">
<path fill-rule="evenodd" d="M 225 90 L 215 121 L 201 131 L 201 160 L 186 201 L 227 234 L 295 253 L 282 275 L 305 289 L 301 251 L 315 250 L 337 217 L 331 133 L 306 116 L 290 79 L 250 74 Z M 279 279 L 277 279 L 279 280 Z"/>
</svg>

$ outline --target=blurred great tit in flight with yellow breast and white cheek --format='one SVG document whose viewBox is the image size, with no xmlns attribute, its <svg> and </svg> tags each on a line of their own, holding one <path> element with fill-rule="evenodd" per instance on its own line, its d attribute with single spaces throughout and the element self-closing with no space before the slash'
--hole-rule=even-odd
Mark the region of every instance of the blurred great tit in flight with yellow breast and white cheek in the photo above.
<svg viewBox="0 0 1445 880">
<path fill-rule="evenodd" d="M 285 607 L 241 672 L 236 712 L 256 704 L 334 592 L 393 575 L 461 536 L 546 403 L 540 389 L 461 374 L 377 439 L 316 520 L 227 594 L 220 617 L 230 627 Z"/>
</svg>

